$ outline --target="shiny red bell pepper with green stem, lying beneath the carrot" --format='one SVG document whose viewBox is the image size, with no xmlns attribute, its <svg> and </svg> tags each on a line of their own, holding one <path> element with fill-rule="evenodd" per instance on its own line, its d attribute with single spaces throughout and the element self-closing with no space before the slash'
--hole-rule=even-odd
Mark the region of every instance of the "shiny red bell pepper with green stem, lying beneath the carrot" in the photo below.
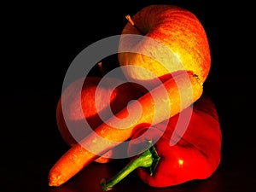
<svg viewBox="0 0 256 192">
<path fill-rule="evenodd" d="M 178 117 L 191 109 L 189 125 L 181 136 L 175 130 Z M 221 159 L 222 133 L 215 105 L 203 95 L 181 113 L 167 119 L 168 122 L 138 128 L 131 137 L 128 153 L 136 154 L 138 148 L 142 152 L 131 158 L 115 177 L 103 178 L 102 189 L 112 189 L 133 170 L 137 170 L 144 183 L 159 188 L 210 177 Z M 180 137 L 175 145 L 170 145 L 172 134 Z"/>
</svg>

